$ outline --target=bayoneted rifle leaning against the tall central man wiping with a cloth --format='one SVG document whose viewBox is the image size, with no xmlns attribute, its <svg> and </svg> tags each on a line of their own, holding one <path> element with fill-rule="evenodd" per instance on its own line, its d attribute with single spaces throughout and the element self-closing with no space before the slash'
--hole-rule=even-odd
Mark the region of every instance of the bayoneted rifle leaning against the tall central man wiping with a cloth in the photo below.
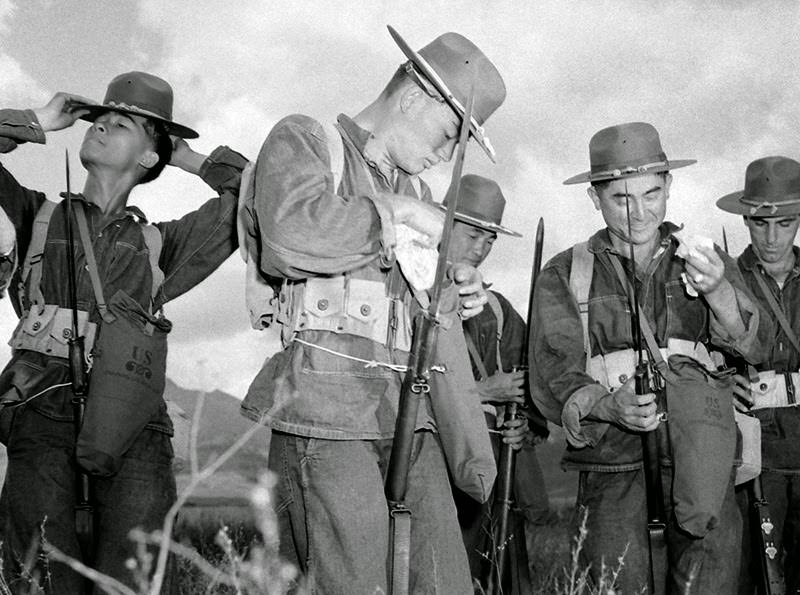
<svg viewBox="0 0 800 595">
<path fill-rule="evenodd" d="M 430 393 L 429 378 L 436 343 L 437 317 L 442 285 L 447 271 L 447 253 L 453 231 L 456 206 L 461 186 L 461 172 L 464 169 L 464 156 L 469 140 L 469 128 L 475 99 L 475 83 L 470 88 L 467 106 L 461 120 L 458 137 L 458 152 L 447 193 L 447 212 L 444 219 L 442 239 L 439 244 L 439 259 L 431 288 L 430 304 L 420 309 L 414 317 L 414 337 L 409 355 L 409 366 L 400 388 L 400 402 L 395 423 L 394 442 L 386 470 L 384 492 L 389 504 L 391 543 L 391 595 L 407 595 L 409 584 L 409 563 L 411 554 L 411 511 L 405 504 L 408 489 L 408 473 L 411 467 L 411 449 L 414 429 L 417 424 L 419 401 Z"/>
</svg>

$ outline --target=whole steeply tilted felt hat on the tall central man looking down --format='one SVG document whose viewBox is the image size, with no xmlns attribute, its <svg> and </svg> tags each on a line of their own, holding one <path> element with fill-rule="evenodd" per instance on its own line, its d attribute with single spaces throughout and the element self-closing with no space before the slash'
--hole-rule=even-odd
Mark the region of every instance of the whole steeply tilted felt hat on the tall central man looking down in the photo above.
<svg viewBox="0 0 800 595">
<path fill-rule="evenodd" d="M 389 33 L 411 61 L 407 68 L 418 71 L 422 82 L 432 85 L 461 118 L 474 81 L 470 132 L 494 161 L 494 148 L 482 126 L 506 98 L 506 86 L 495 65 L 478 46 L 458 33 L 444 33 L 419 52 L 412 50 L 391 26 Z"/>
</svg>

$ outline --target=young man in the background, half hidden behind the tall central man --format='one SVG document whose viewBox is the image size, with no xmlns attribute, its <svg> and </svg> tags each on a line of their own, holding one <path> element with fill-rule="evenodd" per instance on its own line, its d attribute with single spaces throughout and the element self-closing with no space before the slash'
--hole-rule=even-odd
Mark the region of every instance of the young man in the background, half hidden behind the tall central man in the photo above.
<svg viewBox="0 0 800 595">
<path fill-rule="evenodd" d="M 461 178 L 456 210 L 456 223 L 450 243 L 450 260 L 476 268 L 483 264 L 492 250 L 497 234 L 520 237 L 501 225 L 506 199 L 497 182 L 468 174 Z M 445 203 L 446 205 L 446 203 Z M 445 206 L 443 205 L 443 206 Z M 509 523 L 509 543 L 513 554 L 509 580 L 504 592 L 530 591 L 528 556 L 525 547 L 525 525 L 535 532 L 535 525 L 547 516 L 547 492 L 542 470 L 534 452 L 534 443 L 546 440 L 547 421 L 533 405 L 525 382 L 524 362 L 527 360 L 525 321 L 498 291 L 490 291 L 488 307 L 463 322 L 464 337 L 472 363 L 486 423 L 496 431 L 497 420 L 503 419 L 503 405 L 520 403 L 527 414 L 524 419 L 506 422 L 502 441 L 517 451 L 514 504 Z M 530 427 L 530 430 L 528 429 Z M 494 434 L 493 436 L 496 436 Z M 499 455 L 499 440 L 493 440 Z M 481 504 L 454 489 L 461 534 L 474 579 L 484 586 L 491 571 L 492 560 L 492 500 Z M 486 555 L 489 555 L 487 563 Z"/>
</svg>

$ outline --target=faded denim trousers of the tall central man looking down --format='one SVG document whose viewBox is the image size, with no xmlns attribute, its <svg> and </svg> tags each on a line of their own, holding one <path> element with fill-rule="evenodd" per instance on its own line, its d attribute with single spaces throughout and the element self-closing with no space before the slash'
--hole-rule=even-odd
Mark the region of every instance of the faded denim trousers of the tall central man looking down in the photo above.
<svg viewBox="0 0 800 595">
<path fill-rule="evenodd" d="M 281 554 L 311 593 L 388 593 L 389 508 L 384 479 L 392 440 L 325 440 L 273 431 Z M 410 592 L 472 592 L 438 436 L 417 432 L 406 505 L 411 510 Z"/>
</svg>

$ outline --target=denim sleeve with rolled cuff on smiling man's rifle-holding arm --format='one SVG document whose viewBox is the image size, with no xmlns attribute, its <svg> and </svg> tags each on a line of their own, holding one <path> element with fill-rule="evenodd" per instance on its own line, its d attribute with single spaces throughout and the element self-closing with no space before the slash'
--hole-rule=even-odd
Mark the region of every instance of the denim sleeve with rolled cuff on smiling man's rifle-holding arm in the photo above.
<svg viewBox="0 0 800 595">
<path fill-rule="evenodd" d="M 606 423 L 586 419 L 608 391 L 586 373 L 583 326 L 569 290 L 569 260 L 569 251 L 559 254 L 537 280 L 528 361 L 534 403 L 580 448 L 597 444 L 608 429 Z"/>
</svg>

